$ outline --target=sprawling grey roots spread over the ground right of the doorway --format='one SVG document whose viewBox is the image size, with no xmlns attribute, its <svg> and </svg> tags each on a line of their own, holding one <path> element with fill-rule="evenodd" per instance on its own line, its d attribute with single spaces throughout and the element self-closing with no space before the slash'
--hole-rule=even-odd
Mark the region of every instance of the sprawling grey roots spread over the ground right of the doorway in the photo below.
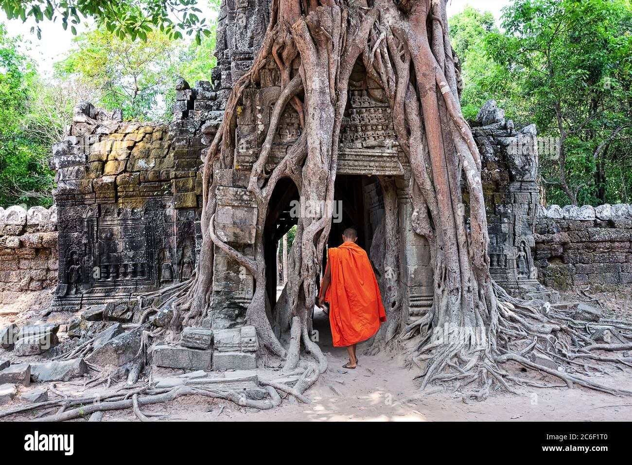
<svg viewBox="0 0 632 465">
<path fill-rule="evenodd" d="M 546 383 L 536 383 L 533 380 L 519 378 L 503 371 L 500 366 L 508 361 L 513 361 L 521 366 L 546 373 L 564 382 L 564 386 L 573 388 L 574 385 L 598 390 L 612 395 L 632 395 L 632 391 L 620 388 L 612 388 L 601 383 L 589 380 L 581 376 L 590 376 L 590 369 L 597 373 L 608 373 L 600 366 L 578 361 L 581 358 L 594 359 L 605 363 L 611 363 L 620 367 L 630 366 L 622 357 L 605 357 L 593 354 L 595 350 L 617 351 L 628 350 L 630 344 L 595 344 L 589 337 L 588 322 L 573 320 L 578 329 L 584 329 L 585 334 L 577 330 L 569 331 L 568 323 L 564 318 L 559 318 L 554 313 L 540 314 L 537 309 L 528 305 L 528 301 L 520 301 L 510 297 L 503 290 L 497 290 L 499 295 L 499 318 L 496 330 L 504 340 L 504 345 L 495 347 L 496 340 L 494 329 L 490 326 L 475 328 L 483 340 L 478 340 L 477 345 L 468 345 L 463 342 L 462 332 L 468 328 L 454 328 L 453 332 L 439 334 L 432 332 L 429 326 L 422 322 L 424 317 L 401 333 L 401 340 L 430 340 L 430 344 L 415 346 L 408 355 L 410 364 L 422 368 L 423 378 L 420 392 L 432 389 L 430 385 L 445 385 L 453 383 L 453 391 L 463 390 L 471 383 L 477 387 L 463 395 L 463 402 L 471 400 L 484 400 L 489 397 L 490 389 L 503 388 L 507 392 L 516 394 L 511 385 L 532 387 L 559 387 Z M 432 318 L 432 317 L 430 317 Z M 426 328 L 425 332 L 418 328 Z M 470 330 L 472 328 L 469 328 Z M 481 333 L 481 331 L 483 333 Z M 574 340 L 581 340 L 584 347 L 576 347 Z M 447 337 L 447 341 L 444 340 Z M 454 342 L 458 340 L 458 342 Z M 560 364 L 559 369 L 544 366 L 526 356 L 536 352 L 549 357 Z M 537 360 L 534 359 L 534 360 Z M 511 385 L 510 385 L 511 383 Z"/>
</svg>

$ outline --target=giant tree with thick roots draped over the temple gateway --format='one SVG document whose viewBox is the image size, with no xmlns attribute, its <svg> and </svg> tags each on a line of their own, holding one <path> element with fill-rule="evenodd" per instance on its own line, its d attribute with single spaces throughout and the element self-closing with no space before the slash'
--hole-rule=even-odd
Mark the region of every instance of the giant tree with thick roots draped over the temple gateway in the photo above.
<svg viewBox="0 0 632 465">
<path fill-rule="evenodd" d="M 71 2 L 58 3 L 67 6 Z M 147 0 L 144 13 L 137 9 L 138 3 L 119 1 L 107 5 L 127 5 L 129 15 L 149 18 L 138 22 L 162 25 L 171 21 L 167 17 L 169 8 L 191 3 L 169 0 L 161 2 L 158 8 L 157 2 Z M 108 17 L 104 3 L 87 4 L 92 8 L 88 13 Z M 135 23 L 130 24 L 133 32 Z M 339 133 L 349 77 L 358 60 L 381 85 L 384 99 L 392 109 L 397 142 L 410 162 L 412 227 L 428 240 L 431 249 L 432 307 L 410 326 L 394 328 L 406 348 L 409 363 L 422 371 L 421 388 L 430 383 L 451 383 L 455 389 L 473 387 L 465 399 L 478 400 L 487 397 L 492 385 L 514 392 L 510 383 L 531 381 L 520 380 L 502 368 L 502 364 L 513 361 L 562 378 L 569 387 L 578 383 L 623 393 L 528 359 L 527 354 L 537 351 L 576 363 L 573 358 L 583 354 L 578 354 L 573 341 L 580 340 L 583 347 L 588 340 L 581 333 L 583 326 L 568 323 L 555 311 L 540 313 L 509 297 L 490 278 L 482 162 L 461 114 L 457 85 L 460 71 L 449 40 L 445 0 L 272 0 L 262 46 L 252 68 L 234 82 L 221 126 L 205 152 L 203 242 L 197 271 L 188 282 L 159 291 L 158 305 L 171 307 L 173 321 L 182 319 L 185 324 L 204 316 L 212 295 L 214 249 L 219 247 L 254 276 L 255 292 L 246 321 L 257 328 L 262 350 L 284 359 L 286 372 L 301 371 L 293 392 L 301 395 L 327 369 L 326 357 L 310 338 L 309 315 L 317 297 L 317 277 L 331 228 L 331 211 L 325 209 L 316 216 L 298 218 L 285 299 L 292 319 L 288 347 L 281 344 L 267 317 L 261 234 L 272 191 L 283 177 L 295 182 L 303 202 L 317 206 L 333 201 Z M 267 63 L 274 63 L 279 70 L 281 94 L 272 108 L 267 136 L 248 184 L 258 205 L 259 227 L 252 258 L 222 242 L 214 231 L 214 168 L 234 165 L 234 128 L 241 97 L 246 89 L 259 84 L 260 71 Z M 296 72 L 293 63 L 298 63 Z M 299 113 L 301 134 L 283 160 L 267 171 L 274 133 L 288 105 Z M 468 223 L 463 214 L 462 185 L 468 198 Z M 384 192 L 389 192 L 388 186 Z M 387 195 L 387 209 L 389 198 Z M 394 227 L 385 226 L 386 237 Z M 396 285 L 385 290 L 386 299 L 398 299 L 397 292 Z M 590 354 L 590 350 L 586 352 Z M 303 368 L 301 359 L 307 361 Z"/>
</svg>

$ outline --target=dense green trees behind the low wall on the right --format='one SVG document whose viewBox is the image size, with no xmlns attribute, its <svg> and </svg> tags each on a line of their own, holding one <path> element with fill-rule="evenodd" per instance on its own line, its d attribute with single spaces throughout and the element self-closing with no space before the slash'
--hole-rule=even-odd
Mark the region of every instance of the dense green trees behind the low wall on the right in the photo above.
<svg viewBox="0 0 632 465">
<path fill-rule="evenodd" d="M 515 0 L 502 30 L 471 8 L 450 25 L 466 117 L 494 98 L 516 123 L 560 140 L 540 154 L 548 203 L 630 201 L 630 0 Z"/>
</svg>

